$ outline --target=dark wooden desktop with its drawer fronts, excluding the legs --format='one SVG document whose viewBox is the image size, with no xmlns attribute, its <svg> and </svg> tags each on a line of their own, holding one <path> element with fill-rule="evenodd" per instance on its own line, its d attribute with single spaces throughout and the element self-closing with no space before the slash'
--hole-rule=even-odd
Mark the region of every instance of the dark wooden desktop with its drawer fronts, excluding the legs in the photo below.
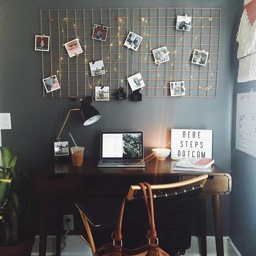
<svg viewBox="0 0 256 256">
<path fill-rule="evenodd" d="M 98 158 L 84 158 L 81 167 L 72 166 L 71 162 L 55 162 L 45 165 L 34 174 L 34 191 L 38 193 L 84 193 L 104 194 L 127 193 L 130 185 L 139 182 L 163 184 L 186 180 L 203 173 L 209 175 L 202 191 L 204 194 L 228 194 L 231 191 L 231 176 L 217 165 L 211 172 L 173 171 L 176 161 L 157 160 L 145 161 L 146 167 L 97 167 Z M 106 187 L 108 188 L 106 190 Z M 113 190 L 111 192 L 111 190 Z"/>
</svg>

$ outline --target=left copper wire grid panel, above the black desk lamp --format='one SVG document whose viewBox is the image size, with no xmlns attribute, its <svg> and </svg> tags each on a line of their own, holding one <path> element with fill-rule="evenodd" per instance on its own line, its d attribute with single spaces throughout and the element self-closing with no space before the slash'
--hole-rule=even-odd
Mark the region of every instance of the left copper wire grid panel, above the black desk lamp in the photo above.
<svg viewBox="0 0 256 256">
<path fill-rule="evenodd" d="M 57 75 L 59 90 L 45 98 L 95 96 L 96 86 L 127 90 L 127 9 L 41 10 L 41 33 L 50 36 L 49 52 L 42 52 L 43 79 Z M 118 19 L 120 18 L 120 20 Z M 108 27 L 106 41 L 92 39 L 94 24 Z M 69 58 L 64 44 L 79 39 L 83 53 Z M 89 63 L 103 60 L 105 74 L 92 76 Z"/>
</svg>

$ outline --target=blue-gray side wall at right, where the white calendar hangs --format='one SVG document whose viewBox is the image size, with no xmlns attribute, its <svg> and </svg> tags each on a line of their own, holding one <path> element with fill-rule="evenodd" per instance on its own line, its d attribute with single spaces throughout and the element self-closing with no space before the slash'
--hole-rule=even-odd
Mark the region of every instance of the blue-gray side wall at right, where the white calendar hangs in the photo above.
<svg viewBox="0 0 256 256">
<path fill-rule="evenodd" d="M 239 6 L 240 17 L 242 11 L 243 1 Z M 229 236 L 241 255 L 256 254 L 256 158 L 236 149 L 236 97 L 251 88 L 256 90 L 255 81 L 235 83 L 233 96 Z"/>
</svg>

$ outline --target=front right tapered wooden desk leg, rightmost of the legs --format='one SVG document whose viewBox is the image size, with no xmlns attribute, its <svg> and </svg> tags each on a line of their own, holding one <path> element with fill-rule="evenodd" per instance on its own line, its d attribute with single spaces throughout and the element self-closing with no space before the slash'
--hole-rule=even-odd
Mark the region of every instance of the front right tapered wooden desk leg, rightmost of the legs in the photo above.
<svg viewBox="0 0 256 256">
<path fill-rule="evenodd" d="M 224 256 L 223 235 L 222 235 L 222 211 L 220 195 L 212 196 L 212 212 L 215 228 L 215 242 L 217 256 Z"/>
</svg>

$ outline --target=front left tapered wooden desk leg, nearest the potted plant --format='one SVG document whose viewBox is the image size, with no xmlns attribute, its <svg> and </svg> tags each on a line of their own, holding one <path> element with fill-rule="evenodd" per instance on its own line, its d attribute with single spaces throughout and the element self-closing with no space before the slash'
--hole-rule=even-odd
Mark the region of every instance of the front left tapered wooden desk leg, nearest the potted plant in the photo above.
<svg viewBox="0 0 256 256">
<path fill-rule="evenodd" d="M 41 196 L 41 215 L 39 233 L 39 256 L 45 256 L 47 243 L 48 196 Z"/>
</svg>

